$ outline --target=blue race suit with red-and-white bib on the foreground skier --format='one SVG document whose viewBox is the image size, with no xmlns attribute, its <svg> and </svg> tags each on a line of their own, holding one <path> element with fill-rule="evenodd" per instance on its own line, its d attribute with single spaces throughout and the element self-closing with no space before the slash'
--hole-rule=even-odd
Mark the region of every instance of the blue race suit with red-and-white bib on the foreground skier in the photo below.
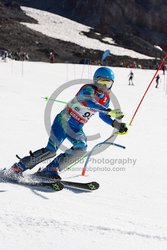
<svg viewBox="0 0 167 250">
<path fill-rule="evenodd" d="M 52 167 L 53 170 L 57 168 L 62 170 L 66 167 L 60 166 L 62 158 L 76 152 L 86 152 L 87 139 L 82 128 L 97 112 L 99 112 L 99 117 L 104 122 L 112 125 L 113 120 L 105 113 L 100 112 L 107 111 L 109 102 L 109 94 L 98 92 L 93 84 L 86 84 L 79 90 L 65 109 L 56 116 L 46 148 L 57 151 L 65 139 L 68 139 L 73 147 L 56 157 L 46 169 Z"/>
</svg>

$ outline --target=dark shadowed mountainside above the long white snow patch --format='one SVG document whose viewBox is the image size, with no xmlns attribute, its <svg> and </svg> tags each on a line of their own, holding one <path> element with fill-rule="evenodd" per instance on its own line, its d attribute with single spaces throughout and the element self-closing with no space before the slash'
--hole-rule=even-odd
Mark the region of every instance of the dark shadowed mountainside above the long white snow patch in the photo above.
<svg viewBox="0 0 167 250">
<path fill-rule="evenodd" d="M 17 2 L 67 16 L 104 33 L 132 33 L 159 45 L 166 43 L 167 40 L 166 0 L 17 0 Z"/>
</svg>

